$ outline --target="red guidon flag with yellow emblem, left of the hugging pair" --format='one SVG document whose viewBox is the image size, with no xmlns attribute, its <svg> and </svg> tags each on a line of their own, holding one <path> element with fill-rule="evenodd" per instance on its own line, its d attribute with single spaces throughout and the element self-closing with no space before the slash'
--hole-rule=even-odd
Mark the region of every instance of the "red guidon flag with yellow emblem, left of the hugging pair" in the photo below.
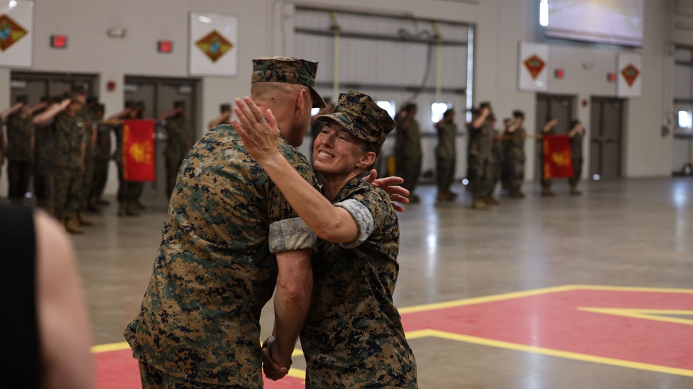
<svg viewBox="0 0 693 389">
<path fill-rule="evenodd" d="M 123 120 L 123 178 L 155 181 L 154 120 Z"/>
</svg>

